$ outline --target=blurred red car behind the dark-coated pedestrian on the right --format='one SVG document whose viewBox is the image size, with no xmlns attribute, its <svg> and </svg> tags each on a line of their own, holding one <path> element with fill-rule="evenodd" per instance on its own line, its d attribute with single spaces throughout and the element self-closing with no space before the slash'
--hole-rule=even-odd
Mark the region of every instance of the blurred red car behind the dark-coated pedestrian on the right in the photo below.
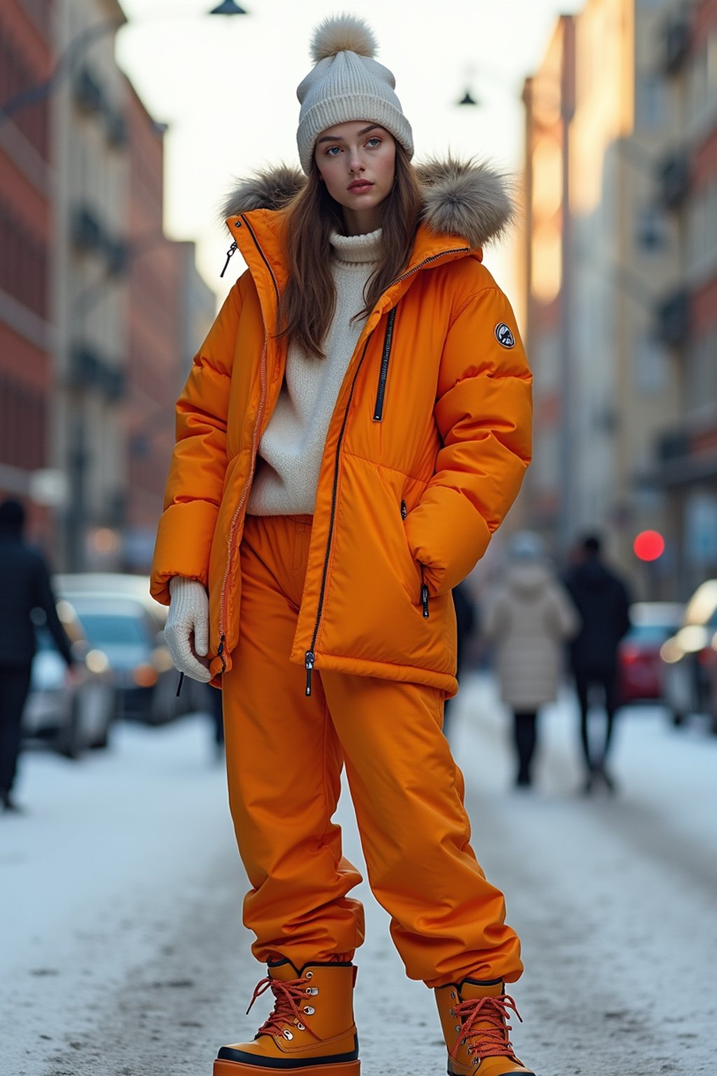
<svg viewBox="0 0 717 1076">
<path fill-rule="evenodd" d="M 684 607 L 673 601 L 636 601 L 630 607 L 631 627 L 618 650 L 620 705 L 662 698 L 660 649 L 674 635 Z"/>
</svg>

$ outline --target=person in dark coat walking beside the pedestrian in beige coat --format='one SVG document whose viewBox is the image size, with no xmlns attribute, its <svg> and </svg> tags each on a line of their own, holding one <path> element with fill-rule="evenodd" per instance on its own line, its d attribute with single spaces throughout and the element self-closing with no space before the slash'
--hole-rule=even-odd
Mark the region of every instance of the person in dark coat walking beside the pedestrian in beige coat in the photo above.
<svg viewBox="0 0 717 1076">
<path fill-rule="evenodd" d="M 617 709 L 617 651 L 630 627 L 630 596 L 625 582 L 603 563 L 596 535 L 583 539 L 583 561 L 568 572 L 565 585 L 577 607 L 583 627 L 570 647 L 570 662 L 580 708 L 580 741 L 586 766 L 585 791 L 597 778 L 611 791 L 615 782 L 606 768 Z M 605 732 L 599 747 L 590 747 L 588 695 L 599 686 L 605 703 Z"/>
</svg>

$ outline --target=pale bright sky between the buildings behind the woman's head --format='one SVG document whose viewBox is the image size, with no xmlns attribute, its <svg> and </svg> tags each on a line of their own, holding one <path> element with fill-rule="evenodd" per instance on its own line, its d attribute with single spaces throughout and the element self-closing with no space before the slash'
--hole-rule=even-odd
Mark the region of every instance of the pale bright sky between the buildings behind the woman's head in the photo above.
<svg viewBox="0 0 717 1076">
<path fill-rule="evenodd" d="M 517 172 L 522 79 L 540 63 L 561 12 L 583 0 L 242 0 L 250 14 L 207 17 L 217 0 L 121 0 L 130 20 L 117 58 L 166 141 L 166 227 L 195 239 L 199 269 L 219 295 L 241 269 L 219 272 L 227 231 L 218 220 L 232 176 L 298 162 L 296 88 L 311 67 L 314 26 L 343 11 L 362 16 L 377 58 L 396 75 L 416 159 L 444 154 L 494 160 Z M 457 108 L 467 86 L 482 107 Z M 510 247 L 486 263 L 511 289 Z"/>
</svg>

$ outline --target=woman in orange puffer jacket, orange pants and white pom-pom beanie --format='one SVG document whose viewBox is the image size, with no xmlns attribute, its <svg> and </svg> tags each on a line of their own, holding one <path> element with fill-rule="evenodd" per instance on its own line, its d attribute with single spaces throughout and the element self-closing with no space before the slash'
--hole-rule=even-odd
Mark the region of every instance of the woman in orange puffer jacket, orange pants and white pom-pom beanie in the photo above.
<svg viewBox="0 0 717 1076">
<path fill-rule="evenodd" d="M 469 844 L 441 732 L 450 597 L 515 498 L 531 376 L 481 246 L 499 176 L 411 166 L 411 126 L 360 19 L 316 31 L 298 89 L 306 179 L 244 184 L 248 269 L 196 357 L 152 590 L 180 669 L 221 684 L 244 922 L 274 1009 L 215 1076 L 359 1071 L 360 881 L 331 822 L 346 766 L 371 886 L 450 1066 L 525 1073 L 503 983 L 522 969 Z M 207 598 L 209 589 L 209 598 Z"/>
</svg>

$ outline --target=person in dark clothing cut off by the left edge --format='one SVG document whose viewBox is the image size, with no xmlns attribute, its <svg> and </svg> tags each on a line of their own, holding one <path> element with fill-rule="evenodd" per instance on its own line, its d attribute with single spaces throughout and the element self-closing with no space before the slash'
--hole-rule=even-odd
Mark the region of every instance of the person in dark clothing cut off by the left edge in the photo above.
<svg viewBox="0 0 717 1076">
<path fill-rule="evenodd" d="M 20 723 L 35 651 L 31 613 L 42 609 L 47 628 L 68 666 L 73 657 L 44 557 L 23 538 L 25 509 L 18 500 L 0 505 L 0 802 L 16 810 L 12 790 L 20 749 Z"/>
</svg>

